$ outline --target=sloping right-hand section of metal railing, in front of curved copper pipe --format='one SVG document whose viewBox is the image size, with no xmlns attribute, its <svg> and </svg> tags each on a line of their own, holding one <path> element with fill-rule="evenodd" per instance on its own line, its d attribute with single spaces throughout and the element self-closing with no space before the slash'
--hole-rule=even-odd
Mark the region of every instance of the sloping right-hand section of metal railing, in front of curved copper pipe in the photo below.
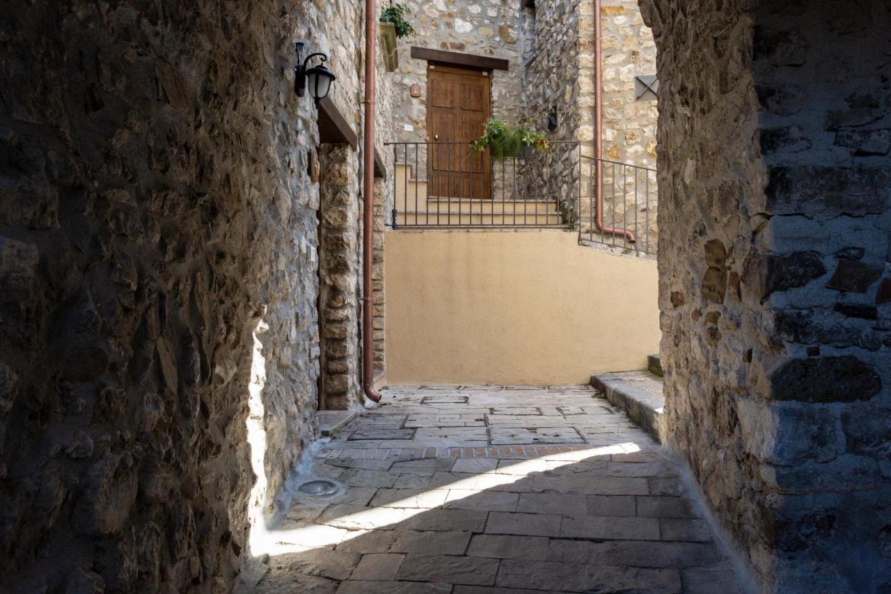
<svg viewBox="0 0 891 594">
<path fill-rule="evenodd" d="M 656 169 L 583 155 L 581 170 L 579 240 L 656 255 Z"/>
</svg>

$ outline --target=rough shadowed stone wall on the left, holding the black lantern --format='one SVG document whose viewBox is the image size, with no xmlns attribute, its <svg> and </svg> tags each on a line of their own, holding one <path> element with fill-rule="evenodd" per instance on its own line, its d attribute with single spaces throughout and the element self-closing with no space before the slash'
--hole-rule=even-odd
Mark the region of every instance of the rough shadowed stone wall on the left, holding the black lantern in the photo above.
<svg viewBox="0 0 891 594">
<path fill-rule="evenodd" d="M 331 54 L 358 128 L 361 19 L 4 11 L 0 589 L 231 587 L 249 510 L 315 431 L 318 136 L 292 44 Z"/>
</svg>

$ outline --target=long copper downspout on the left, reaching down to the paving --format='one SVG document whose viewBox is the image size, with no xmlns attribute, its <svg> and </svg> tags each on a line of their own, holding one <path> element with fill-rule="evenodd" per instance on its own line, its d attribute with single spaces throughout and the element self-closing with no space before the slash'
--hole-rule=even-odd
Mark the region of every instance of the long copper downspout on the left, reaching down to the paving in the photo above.
<svg viewBox="0 0 891 594">
<path fill-rule="evenodd" d="M 362 389 L 365 396 L 380 402 L 374 391 L 374 286 L 372 252 L 374 251 L 374 86 L 375 50 L 378 38 L 378 7 L 375 0 L 365 0 L 365 121 L 362 170 Z"/>
</svg>

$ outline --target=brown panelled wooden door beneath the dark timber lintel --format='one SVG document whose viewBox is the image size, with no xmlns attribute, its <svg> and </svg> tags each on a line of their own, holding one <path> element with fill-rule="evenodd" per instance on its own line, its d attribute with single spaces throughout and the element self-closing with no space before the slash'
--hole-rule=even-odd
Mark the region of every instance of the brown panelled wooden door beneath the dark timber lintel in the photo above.
<svg viewBox="0 0 891 594">
<path fill-rule="evenodd" d="M 491 111 L 488 75 L 437 64 L 427 67 L 430 197 L 492 199 L 488 150 L 470 150 Z"/>
</svg>

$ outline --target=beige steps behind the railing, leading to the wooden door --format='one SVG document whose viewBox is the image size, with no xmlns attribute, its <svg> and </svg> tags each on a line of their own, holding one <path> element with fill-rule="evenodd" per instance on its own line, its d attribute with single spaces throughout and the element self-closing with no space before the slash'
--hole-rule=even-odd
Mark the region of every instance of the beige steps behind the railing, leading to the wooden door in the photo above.
<svg viewBox="0 0 891 594">
<path fill-rule="evenodd" d="M 396 226 L 411 227 L 560 227 L 556 201 L 447 198 L 430 196 L 428 182 L 412 165 L 396 163 Z M 389 213 L 388 213 L 389 215 Z M 388 216 L 388 219 L 390 217 Z"/>
</svg>

